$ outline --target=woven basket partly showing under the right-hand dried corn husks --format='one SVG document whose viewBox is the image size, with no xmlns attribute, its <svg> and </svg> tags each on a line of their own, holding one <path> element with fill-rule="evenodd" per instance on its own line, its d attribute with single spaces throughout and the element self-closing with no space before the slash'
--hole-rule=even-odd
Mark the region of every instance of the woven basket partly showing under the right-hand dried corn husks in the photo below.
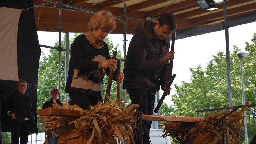
<svg viewBox="0 0 256 144">
<path fill-rule="evenodd" d="M 195 137 L 195 139 L 191 140 L 188 144 L 208 144 L 215 139 L 215 136 L 212 136 L 206 132 L 200 133 Z"/>
</svg>

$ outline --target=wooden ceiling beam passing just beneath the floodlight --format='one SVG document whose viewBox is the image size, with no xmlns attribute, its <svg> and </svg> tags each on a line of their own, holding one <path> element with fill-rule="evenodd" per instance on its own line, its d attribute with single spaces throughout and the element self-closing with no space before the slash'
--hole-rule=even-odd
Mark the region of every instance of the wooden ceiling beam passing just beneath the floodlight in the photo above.
<svg viewBox="0 0 256 144">
<path fill-rule="evenodd" d="M 231 6 L 242 4 L 242 3 L 245 3 L 245 2 L 249 2 L 249 1 L 251 1 L 251 0 L 232 0 L 232 1 L 228 1 L 229 3 L 227 3 L 227 7 L 231 7 Z M 223 5 L 218 5 L 218 6 L 219 6 L 219 9 L 223 9 Z M 204 10 L 204 9 L 196 9 L 196 10 L 193 10 L 193 11 L 178 14 L 178 15 L 176 15 L 176 17 L 177 17 L 177 19 L 184 19 L 184 18 L 188 18 L 188 17 L 191 17 L 191 16 L 200 15 L 202 13 L 207 14 L 207 12 L 210 13 L 212 11 L 207 11 L 207 10 Z"/>
</svg>

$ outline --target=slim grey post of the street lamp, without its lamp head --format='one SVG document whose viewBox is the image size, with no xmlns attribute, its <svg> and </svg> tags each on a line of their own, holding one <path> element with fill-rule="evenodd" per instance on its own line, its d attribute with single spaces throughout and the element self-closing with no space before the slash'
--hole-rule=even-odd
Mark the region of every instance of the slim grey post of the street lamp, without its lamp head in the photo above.
<svg viewBox="0 0 256 144">
<path fill-rule="evenodd" d="M 241 72 L 241 87 L 242 87 L 242 104 L 245 105 L 245 96 L 244 96 L 244 77 L 243 77 L 243 68 L 242 68 L 242 57 L 240 59 L 240 72 Z M 246 112 L 243 112 L 246 116 Z M 244 117 L 244 134 L 245 134 L 245 144 L 248 144 L 248 133 L 247 133 L 247 122 L 246 117 Z"/>
</svg>

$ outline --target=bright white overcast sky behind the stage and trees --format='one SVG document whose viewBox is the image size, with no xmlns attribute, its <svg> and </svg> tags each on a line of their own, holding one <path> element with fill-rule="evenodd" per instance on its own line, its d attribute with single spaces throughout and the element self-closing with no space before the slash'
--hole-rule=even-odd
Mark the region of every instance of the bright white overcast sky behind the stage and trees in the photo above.
<svg viewBox="0 0 256 144">
<path fill-rule="evenodd" d="M 256 32 L 256 22 L 229 28 L 229 48 L 231 53 L 233 53 L 233 45 L 244 50 L 246 41 L 252 43 L 251 39 L 254 32 Z M 64 33 L 62 35 L 64 36 Z M 74 33 L 69 33 L 69 37 L 73 36 Z M 109 34 L 108 37 L 113 41 L 114 47 L 119 44 L 118 49 L 123 52 L 123 35 Z M 132 35 L 127 35 L 127 49 L 131 38 Z M 38 31 L 38 39 L 42 45 L 54 46 L 56 40 L 59 39 L 59 33 Z M 49 54 L 48 48 L 41 47 L 41 50 L 46 55 Z M 174 52 L 173 73 L 176 74 L 176 78 L 173 84 L 181 85 L 181 81 L 190 82 L 191 72 L 189 67 L 196 68 L 200 64 L 202 68 L 206 68 L 213 55 L 216 55 L 218 52 L 226 53 L 225 31 L 176 40 Z M 176 91 L 172 87 L 171 95 L 175 93 Z M 170 95 L 166 96 L 164 102 L 169 105 L 172 104 Z"/>
</svg>

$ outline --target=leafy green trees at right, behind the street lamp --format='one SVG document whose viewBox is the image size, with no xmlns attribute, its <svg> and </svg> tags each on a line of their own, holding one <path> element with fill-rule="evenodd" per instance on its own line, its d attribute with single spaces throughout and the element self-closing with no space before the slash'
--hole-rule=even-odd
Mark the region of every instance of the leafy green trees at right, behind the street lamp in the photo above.
<svg viewBox="0 0 256 144">
<path fill-rule="evenodd" d="M 249 104 L 256 102 L 256 34 L 254 33 L 253 44 L 246 42 L 245 50 L 250 56 L 242 59 L 243 76 L 245 87 L 245 100 Z M 233 105 L 241 105 L 241 76 L 240 60 L 236 56 L 239 49 L 234 46 L 230 53 L 231 87 Z M 196 109 L 207 109 L 228 106 L 226 55 L 218 52 L 207 64 L 204 71 L 199 65 L 195 69 L 189 68 L 192 73 L 191 83 L 182 82 L 175 85 L 177 94 L 172 95 L 174 109 L 170 109 L 177 116 L 196 116 Z"/>
</svg>

